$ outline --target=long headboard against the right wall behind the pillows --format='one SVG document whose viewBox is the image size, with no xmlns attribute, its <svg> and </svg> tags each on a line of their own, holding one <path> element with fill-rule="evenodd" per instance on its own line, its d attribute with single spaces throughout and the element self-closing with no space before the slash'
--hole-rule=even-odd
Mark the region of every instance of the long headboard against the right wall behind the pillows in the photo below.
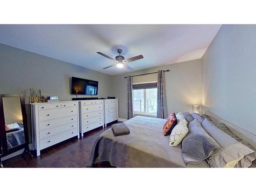
<svg viewBox="0 0 256 192">
<path fill-rule="evenodd" d="M 226 121 L 225 119 L 222 119 L 221 117 L 209 111 L 205 111 L 205 114 L 208 115 L 214 122 L 224 123 L 234 135 L 240 137 L 241 139 L 251 144 L 254 148 L 256 148 L 256 135 L 242 129 L 241 127 L 235 124 Z"/>
</svg>

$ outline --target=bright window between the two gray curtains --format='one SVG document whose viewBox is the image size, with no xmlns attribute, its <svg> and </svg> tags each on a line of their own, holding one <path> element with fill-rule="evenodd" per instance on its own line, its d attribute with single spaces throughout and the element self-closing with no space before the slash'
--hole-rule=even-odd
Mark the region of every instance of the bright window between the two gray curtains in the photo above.
<svg viewBox="0 0 256 192">
<path fill-rule="evenodd" d="M 135 113 L 157 114 L 157 83 L 133 85 L 133 111 Z"/>
</svg>

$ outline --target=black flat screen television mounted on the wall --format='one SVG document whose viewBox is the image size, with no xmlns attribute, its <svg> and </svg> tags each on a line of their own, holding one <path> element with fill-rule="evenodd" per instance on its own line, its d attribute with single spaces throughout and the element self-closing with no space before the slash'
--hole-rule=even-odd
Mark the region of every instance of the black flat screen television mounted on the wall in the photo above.
<svg viewBox="0 0 256 192">
<path fill-rule="evenodd" d="M 98 95 L 98 81 L 72 77 L 72 95 Z"/>
</svg>

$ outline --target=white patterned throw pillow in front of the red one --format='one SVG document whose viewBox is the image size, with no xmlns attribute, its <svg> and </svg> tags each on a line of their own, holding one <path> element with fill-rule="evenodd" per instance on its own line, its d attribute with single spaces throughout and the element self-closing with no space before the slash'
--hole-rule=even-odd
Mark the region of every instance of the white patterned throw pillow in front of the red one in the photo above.
<svg viewBox="0 0 256 192">
<path fill-rule="evenodd" d="M 174 127 L 172 133 L 170 133 L 169 146 L 177 146 L 182 139 L 188 133 L 187 121 L 183 115 L 179 116 L 178 124 Z"/>
</svg>

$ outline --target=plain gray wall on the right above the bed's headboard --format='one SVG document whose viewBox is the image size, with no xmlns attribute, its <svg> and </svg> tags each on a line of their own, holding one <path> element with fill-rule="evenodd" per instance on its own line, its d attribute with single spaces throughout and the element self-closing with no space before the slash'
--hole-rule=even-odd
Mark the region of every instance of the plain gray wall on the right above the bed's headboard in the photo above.
<svg viewBox="0 0 256 192">
<path fill-rule="evenodd" d="M 222 25 L 202 58 L 202 104 L 256 134 L 256 25 Z"/>
</svg>

